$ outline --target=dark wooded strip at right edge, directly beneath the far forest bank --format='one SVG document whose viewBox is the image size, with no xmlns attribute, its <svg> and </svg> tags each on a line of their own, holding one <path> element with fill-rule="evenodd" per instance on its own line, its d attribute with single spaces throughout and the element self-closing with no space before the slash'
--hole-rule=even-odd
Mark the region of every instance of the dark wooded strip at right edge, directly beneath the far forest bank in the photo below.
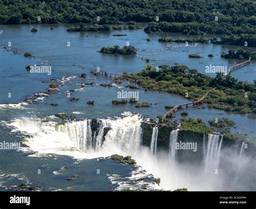
<svg viewBox="0 0 256 209">
<path fill-rule="evenodd" d="M 220 40 L 217 40 L 217 38 L 211 39 L 211 43 L 237 46 L 245 46 L 245 44 L 247 43 L 248 47 L 256 47 L 256 34 L 241 34 L 240 36 L 223 36 L 220 38 Z"/>
</svg>

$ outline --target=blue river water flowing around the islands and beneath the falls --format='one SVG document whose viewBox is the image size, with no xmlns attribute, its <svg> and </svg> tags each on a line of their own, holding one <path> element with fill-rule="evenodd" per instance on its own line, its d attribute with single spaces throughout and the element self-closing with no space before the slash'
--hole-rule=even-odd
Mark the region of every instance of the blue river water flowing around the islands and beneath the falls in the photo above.
<svg viewBox="0 0 256 209">
<path fill-rule="evenodd" d="M 120 90 L 129 91 L 131 89 L 125 87 L 127 83 L 120 83 L 113 87 L 99 86 L 100 83 L 112 83 L 113 79 L 89 73 L 97 67 L 102 71 L 122 74 L 125 71 L 137 73 L 146 64 L 153 64 L 156 67 L 160 64 L 172 65 L 174 62 L 178 62 L 205 73 L 206 65 L 229 67 L 241 62 L 241 60 L 227 60 L 220 57 L 221 51 L 227 52 L 230 49 L 236 49 L 237 46 L 198 43 L 190 44 L 187 47 L 184 43 L 159 43 L 158 39 L 161 34 L 146 34 L 143 30 L 70 33 L 66 32 L 66 29 L 71 25 L 53 25 L 55 30 L 50 30 L 51 26 L 47 24 L 0 26 L 0 30 L 3 31 L 0 34 L 0 45 L 8 46 L 8 42 L 11 41 L 11 48 L 16 48 L 21 52 L 31 52 L 35 56 L 35 58 L 24 58 L 22 54 L 14 54 L 0 48 L 1 141 L 24 142 L 24 136 L 28 133 L 31 134 L 30 129 L 36 129 L 32 134 L 40 132 L 35 124 L 29 128 L 26 127 L 27 129 L 22 126 L 16 127 L 17 131 L 14 127 L 9 126 L 15 120 L 43 120 L 62 123 L 63 121 L 56 118 L 55 114 L 73 114 L 76 115 L 77 120 L 82 120 L 114 118 L 121 116 L 124 112 L 140 114 L 143 119 L 156 118 L 157 115 L 163 115 L 166 112 L 164 108 L 166 105 L 174 106 L 187 101 L 184 97 L 174 94 L 145 92 L 143 89 L 138 89 L 139 102 L 149 102 L 152 103 L 152 106 L 148 108 L 136 108 L 132 104 L 113 106 L 112 100 L 118 99 L 117 95 Z M 30 32 L 32 27 L 36 27 L 38 32 Z M 127 34 L 127 36 L 112 36 L 112 34 L 118 33 Z M 170 38 L 189 37 L 179 33 L 167 33 L 167 36 Z M 151 41 L 146 41 L 147 38 L 150 38 Z M 137 55 L 122 56 L 97 52 L 103 46 L 119 45 L 123 47 L 127 41 L 137 48 Z M 68 43 L 70 46 L 67 46 Z M 255 48 L 250 48 L 250 50 L 256 51 Z M 188 58 L 188 54 L 191 53 L 199 53 L 204 58 Z M 213 58 L 208 58 L 207 55 L 210 53 L 214 54 Z M 146 62 L 145 59 L 151 59 L 151 61 Z M 50 65 L 53 69 L 52 74 L 31 74 L 26 71 L 26 65 L 35 64 Z M 252 61 L 250 65 L 232 72 L 232 76 L 252 83 L 256 79 L 255 66 L 256 62 Z M 81 73 L 86 73 L 86 79 L 79 77 Z M 214 74 L 209 75 L 215 76 Z M 26 95 L 44 92 L 49 83 L 42 81 L 51 79 L 65 81 L 65 85 L 59 88 L 58 93 L 39 100 L 37 104 L 23 102 Z M 96 85 L 82 88 L 80 85 L 82 82 L 95 82 Z M 8 96 L 9 93 L 11 96 Z M 71 94 L 71 97 L 79 98 L 79 101 L 70 102 L 67 97 L 68 93 Z M 88 100 L 94 100 L 95 105 L 87 105 Z M 58 103 L 58 106 L 53 107 L 50 105 L 51 103 Z M 188 113 L 189 117 L 201 117 L 205 122 L 215 117 L 228 117 L 234 120 L 237 126 L 231 129 L 232 133 L 255 136 L 255 115 L 229 114 L 221 110 L 192 107 L 188 107 Z M 180 118 L 180 114 L 177 113 L 174 120 L 179 121 Z M 21 130 L 25 132 L 21 133 Z M 115 182 L 113 179 L 119 179 L 117 181 L 120 185 L 122 184 L 120 182 L 127 182 L 127 176 L 134 176 L 132 172 L 138 171 L 138 168 L 134 168 L 134 166 L 120 165 L 110 159 L 98 161 L 95 157 L 100 157 L 99 155 L 93 156 L 92 159 L 86 159 L 86 161 L 77 161 L 72 158 L 73 155 L 57 155 L 54 152 L 52 155 L 28 157 L 32 151 L 38 150 L 1 151 L 0 183 L 2 182 L 2 185 L 17 185 L 24 181 L 42 185 L 45 190 L 108 191 L 118 187 L 118 184 L 113 183 Z M 107 152 L 107 154 L 116 153 Z M 84 173 L 85 168 L 86 172 Z M 40 175 L 38 169 L 41 171 Z M 98 169 L 100 174 L 96 175 Z M 66 180 L 74 175 L 79 177 L 76 180 Z M 150 179 L 152 176 L 147 176 L 148 182 Z M 192 189 L 197 190 L 193 186 Z"/>
</svg>

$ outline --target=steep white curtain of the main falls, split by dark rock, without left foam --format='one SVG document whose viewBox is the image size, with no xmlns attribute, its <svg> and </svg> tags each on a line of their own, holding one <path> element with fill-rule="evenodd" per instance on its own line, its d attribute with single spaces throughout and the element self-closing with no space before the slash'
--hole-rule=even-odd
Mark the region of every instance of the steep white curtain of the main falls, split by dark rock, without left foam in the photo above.
<svg viewBox="0 0 256 209">
<path fill-rule="evenodd" d="M 117 145 L 122 150 L 137 150 L 141 142 L 141 122 L 140 116 L 133 115 L 115 119 L 98 119 L 99 126 L 94 134 L 91 130 L 91 120 L 65 123 L 57 126 L 56 130 L 67 134 L 75 147 L 84 152 L 91 149 L 99 151 L 107 144 Z M 106 127 L 110 130 L 104 138 Z"/>
</svg>

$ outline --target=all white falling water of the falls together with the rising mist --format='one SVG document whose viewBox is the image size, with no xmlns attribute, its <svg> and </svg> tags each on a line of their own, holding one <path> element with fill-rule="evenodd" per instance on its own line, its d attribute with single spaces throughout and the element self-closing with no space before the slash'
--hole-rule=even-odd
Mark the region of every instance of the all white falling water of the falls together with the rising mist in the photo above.
<svg viewBox="0 0 256 209">
<path fill-rule="evenodd" d="M 149 148 L 140 145 L 142 118 L 139 115 L 125 113 L 124 117 L 102 119 L 98 122 L 98 135 L 94 138 L 90 132 L 91 120 L 68 122 L 57 126 L 54 122 L 45 123 L 40 120 L 23 119 L 16 120 L 11 125 L 15 126 L 17 130 L 31 135 L 25 139 L 24 143 L 28 145 L 30 151 L 37 152 L 33 156 L 57 154 L 75 158 L 96 158 L 113 154 L 131 155 L 147 173 L 152 173 L 154 177 L 161 179 L 160 187 L 164 190 L 175 190 L 182 187 L 186 187 L 189 191 L 230 189 L 228 186 L 224 187 L 225 181 L 221 176 L 224 175 L 223 173 L 212 177 L 212 175 L 206 175 L 208 173 L 205 173 L 201 166 L 183 166 L 166 161 L 168 156 L 175 160 L 174 144 L 178 139 L 178 129 L 170 133 L 169 152 L 158 151 L 158 155 L 154 156 L 150 153 Z M 103 137 L 105 127 L 110 127 L 111 130 Z M 218 135 L 205 137 L 204 153 L 207 171 L 212 171 L 216 165 L 218 168 L 221 141 L 222 138 Z M 94 142 L 93 145 L 92 142 Z"/>
</svg>

